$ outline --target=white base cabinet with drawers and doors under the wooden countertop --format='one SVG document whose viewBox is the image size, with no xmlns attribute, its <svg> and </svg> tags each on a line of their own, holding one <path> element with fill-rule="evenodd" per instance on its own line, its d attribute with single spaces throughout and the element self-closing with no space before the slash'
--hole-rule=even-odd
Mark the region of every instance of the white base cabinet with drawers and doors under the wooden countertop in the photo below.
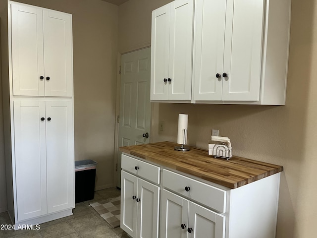
<svg viewBox="0 0 317 238">
<path fill-rule="evenodd" d="M 147 179 L 147 168 L 162 173 Z M 275 238 L 279 180 L 280 173 L 230 189 L 123 154 L 121 228 L 132 238 Z"/>
</svg>

